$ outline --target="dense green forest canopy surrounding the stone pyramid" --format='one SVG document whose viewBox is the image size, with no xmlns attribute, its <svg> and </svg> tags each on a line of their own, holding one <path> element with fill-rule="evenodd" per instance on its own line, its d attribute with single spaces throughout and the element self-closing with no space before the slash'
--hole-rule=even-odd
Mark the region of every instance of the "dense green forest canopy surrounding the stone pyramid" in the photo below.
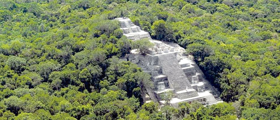
<svg viewBox="0 0 280 120">
<path fill-rule="evenodd" d="M 144 104 L 150 75 L 121 58 L 147 43 L 117 17 L 184 47 L 224 102 Z M 279 35 L 277 0 L 0 0 L 0 120 L 279 120 Z"/>
</svg>

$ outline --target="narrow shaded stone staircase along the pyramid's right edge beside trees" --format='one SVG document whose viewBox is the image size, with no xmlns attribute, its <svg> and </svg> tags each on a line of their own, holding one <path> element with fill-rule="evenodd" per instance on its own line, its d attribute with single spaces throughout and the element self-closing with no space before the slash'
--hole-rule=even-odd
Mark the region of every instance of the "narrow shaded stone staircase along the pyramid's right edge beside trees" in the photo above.
<svg viewBox="0 0 280 120">
<path fill-rule="evenodd" d="M 193 61 L 193 62 L 195 62 L 195 61 Z M 210 83 L 208 80 L 206 80 L 206 77 L 205 77 L 204 73 L 202 72 L 202 70 L 200 70 L 199 66 L 198 66 L 197 64 L 192 64 L 192 66 L 195 67 L 195 70 L 197 71 L 197 73 L 200 73 L 200 74 L 201 74 L 201 76 L 202 76 L 202 82 L 203 82 L 204 85 L 205 85 L 205 89 L 206 89 L 206 90 L 211 90 L 211 93 L 212 93 L 216 98 L 220 97 L 220 95 L 221 95 L 220 92 L 219 92 L 214 86 L 212 86 L 211 83 Z"/>
</svg>

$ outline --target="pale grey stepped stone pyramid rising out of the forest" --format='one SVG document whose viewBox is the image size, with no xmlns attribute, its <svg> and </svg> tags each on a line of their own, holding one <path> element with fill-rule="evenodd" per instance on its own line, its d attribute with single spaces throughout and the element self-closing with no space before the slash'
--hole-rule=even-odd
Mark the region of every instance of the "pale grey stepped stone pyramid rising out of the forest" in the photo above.
<svg viewBox="0 0 280 120">
<path fill-rule="evenodd" d="M 153 101 L 164 106 L 160 94 L 171 90 L 176 95 L 170 101 L 171 106 L 178 108 L 180 102 L 197 100 L 204 105 L 222 102 L 220 93 L 205 79 L 204 74 L 185 49 L 175 43 L 163 43 L 153 40 L 148 32 L 134 25 L 129 18 L 116 18 L 121 23 L 125 36 L 131 40 L 148 38 L 155 46 L 145 56 L 132 50 L 128 60 L 140 66 L 152 76 L 154 89 L 146 88 L 146 103 Z"/>
</svg>

